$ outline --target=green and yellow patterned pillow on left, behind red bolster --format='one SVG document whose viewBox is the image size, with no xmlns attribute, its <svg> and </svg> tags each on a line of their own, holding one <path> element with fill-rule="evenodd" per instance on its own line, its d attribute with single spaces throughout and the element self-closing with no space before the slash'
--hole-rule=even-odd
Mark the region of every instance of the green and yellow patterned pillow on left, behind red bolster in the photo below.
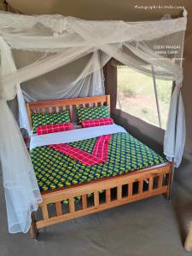
<svg viewBox="0 0 192 256">
<path fill-rule="evenodd" d="M 63 110 L 57 113 L 32 113 L 32 131 L 40 125 L 55 125 L 62 123 L 70 123 L 71 119 L 68 110 Z"/>
</svg>

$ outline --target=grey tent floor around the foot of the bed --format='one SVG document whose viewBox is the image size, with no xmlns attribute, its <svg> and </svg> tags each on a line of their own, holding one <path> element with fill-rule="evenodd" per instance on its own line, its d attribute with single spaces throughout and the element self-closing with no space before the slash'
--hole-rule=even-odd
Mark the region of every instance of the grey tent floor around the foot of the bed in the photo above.
<svg viewBox="0 0 192 256">
<path fill-rule="evenodd" d="M 2 178 L 1 178 L 2 180 Z M 94 213 L 39 232 L 39 241 L 28 234 L 8 233 L 3 189 L 0 189 L 1 256 L 143 256 L 189 255 L 183 249 L 192 218 L 192 158 L 176 171 L 172 201 L 162 195 Z"/>
</svg>

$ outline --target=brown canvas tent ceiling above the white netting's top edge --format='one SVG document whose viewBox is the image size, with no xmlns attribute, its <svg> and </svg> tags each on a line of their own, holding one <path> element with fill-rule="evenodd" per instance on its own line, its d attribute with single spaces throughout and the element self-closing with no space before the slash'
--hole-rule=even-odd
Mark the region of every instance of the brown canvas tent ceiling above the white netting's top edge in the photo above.
<svg viewBox="0 0 192 256">
<path fill-rule="evenodd" d="M 46 0 L 39 2 L 38 0 L 7 0 L 7 2 L 21 13 L 27 15 L 70 15 L 78 16 L 84 19 L 109 19 L 109 20 L 138 20 L 138 16 L 132 11 L 136 4 L 141 5 L 135 0 Z M 185 7 L 188 8 L 190 1 L 185 1 Z M 154 1 L 142 1 L 143 5 L 154 5 Z M 159 3 L 158 3 L 159 4 Z M 160 4 L 168 5 L 167 0 L 161 0 Z M 183 1 L 174 0 L 174 4 L 183 5 Z M 101 8 L 102 7 L 102 8 Z M 182 11 L 178 9 L 169 9 L 168 11 L 173 17 L 182 15 Z M 165 9 L 155 9 L 153 11 L 138 10 L 139 20 L 160 19 L 165 14 Z"/>
</svg>

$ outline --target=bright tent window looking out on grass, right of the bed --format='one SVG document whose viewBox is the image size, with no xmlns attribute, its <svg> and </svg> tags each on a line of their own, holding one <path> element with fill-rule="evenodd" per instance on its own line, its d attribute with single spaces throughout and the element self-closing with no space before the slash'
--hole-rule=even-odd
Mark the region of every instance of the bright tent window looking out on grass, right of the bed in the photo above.
<svg viewBox="0 0 192 256">
<path fill-rule="evenodd" d="M 117 108 L 166 129 L 172 81 L 156 79 L 126 66 L 117 67 Z M 159 106 L 158 106 L 159 105 Z"/>
</svg>

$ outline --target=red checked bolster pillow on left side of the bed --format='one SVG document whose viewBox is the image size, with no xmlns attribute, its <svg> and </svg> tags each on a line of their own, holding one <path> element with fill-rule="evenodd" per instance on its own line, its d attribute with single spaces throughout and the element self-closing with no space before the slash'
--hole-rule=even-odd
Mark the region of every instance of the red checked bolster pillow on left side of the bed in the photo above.
<svg viewBox="0 0 192 256">
<path fill-rule="evenodd" d="M 48 133 L 59 132 L 59 131 L 69 131 L 69 130 L 73 130 L 72 123 L 40 125 L 38 126 L 36 132 L 38 135 L 42 135 L 42 134 L 48 134 Z"/>
</svg>

